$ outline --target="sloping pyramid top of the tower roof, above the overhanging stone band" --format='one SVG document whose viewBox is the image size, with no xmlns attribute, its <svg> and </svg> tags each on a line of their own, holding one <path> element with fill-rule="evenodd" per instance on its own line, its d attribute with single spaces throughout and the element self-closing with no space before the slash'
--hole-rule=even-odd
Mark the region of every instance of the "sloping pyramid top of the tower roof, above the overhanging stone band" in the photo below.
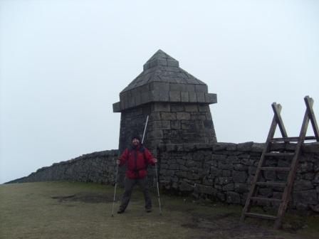
<svg viewBox="0 0 319 239">
<path fill-rule="evenodd" d="M 130 85 L 127 85 L 122 92 L 156 81 L 206 85 L 201 80 L 198 80 L 193 75 L 187 73 L 186 70 L 179 68 L 179 62 L 172 58 L 172 56 L 164 53 L 162 50 L 158 50 L 150 60 L 147 60 L 143 65 L 142 73 L 140 73 Z"/>
</svg>

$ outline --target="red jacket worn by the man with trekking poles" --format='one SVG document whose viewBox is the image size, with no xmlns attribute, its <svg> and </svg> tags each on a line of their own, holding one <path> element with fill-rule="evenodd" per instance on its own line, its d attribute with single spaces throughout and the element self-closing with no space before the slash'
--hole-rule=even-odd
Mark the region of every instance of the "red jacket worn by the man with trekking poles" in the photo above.
<svg viewBox="0 0 319 239">
<path fill-rule="evenodd" d="M 154 156 L 143 146 L 125 149 L 119 160 L 120 166 L 126 164 L 125 175 L 130 179 L 144 178 L 147 172 L 147 164 L 155 164 Z"/>
</svg>

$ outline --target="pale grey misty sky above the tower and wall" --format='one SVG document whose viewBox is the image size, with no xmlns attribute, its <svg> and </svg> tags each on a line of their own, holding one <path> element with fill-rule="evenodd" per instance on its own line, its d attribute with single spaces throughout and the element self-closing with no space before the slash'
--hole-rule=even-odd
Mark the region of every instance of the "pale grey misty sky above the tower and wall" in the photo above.
<svg viewBox="0 0 319 239">
<path fill-rule="evenodd" d="M 0 1 L 0 183 L 117 149 L 112 104 L 158 49 L 217 94 L 219 142 L 264 142 L 272 102 L 290 136 L 305 95 L 319 118 L 319 1 Z"/>
</svg>

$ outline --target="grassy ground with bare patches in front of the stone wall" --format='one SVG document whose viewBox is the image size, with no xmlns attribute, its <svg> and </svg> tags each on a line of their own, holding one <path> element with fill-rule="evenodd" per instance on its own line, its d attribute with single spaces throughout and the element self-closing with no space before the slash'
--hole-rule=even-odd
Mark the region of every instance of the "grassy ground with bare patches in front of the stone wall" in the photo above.
<svg viewBox="0 0 319 239">
<path fill-rule="evenodd" d="M 318 216 L 287 215 L 284 230 L 272 223 L 239 223 L 241 207 L 152 194 L 144 211 L 137 188 L 125 213 L 111 217 L 112 186 L 66 181 L 0 186 L 0 238 L 319 238 Z M 122 190 L 119 189 L 117 199 Z"/>
</svg>

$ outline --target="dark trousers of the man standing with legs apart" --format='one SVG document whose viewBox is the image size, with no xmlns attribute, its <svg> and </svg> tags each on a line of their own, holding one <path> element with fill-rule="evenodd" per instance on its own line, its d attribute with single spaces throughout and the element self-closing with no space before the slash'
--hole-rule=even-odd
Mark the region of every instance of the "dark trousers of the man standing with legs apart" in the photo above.
<svg viewBox="0 0 319 239">
<path fill-rule="evenodd" d="M 142 179 L 129 179 L 125 178 L 125 192 L 122 196 L 122 201 L 120 205 L 120 211 L 125 211 L 125 208 L 127 207 L 128 203 L 130 202 L 130 198 L 132 195 L 133 188 L 135 184 L 139 184 L 140 188 L 142 189 L 144 193 L 145 198 L 145 209 L 151 209 L 152 208 L 152 201 L 150 198 L 150 193 L 148 191 L 148 185 L 147 185 L 147 176 L 145 176 Z"/>
</svg>

